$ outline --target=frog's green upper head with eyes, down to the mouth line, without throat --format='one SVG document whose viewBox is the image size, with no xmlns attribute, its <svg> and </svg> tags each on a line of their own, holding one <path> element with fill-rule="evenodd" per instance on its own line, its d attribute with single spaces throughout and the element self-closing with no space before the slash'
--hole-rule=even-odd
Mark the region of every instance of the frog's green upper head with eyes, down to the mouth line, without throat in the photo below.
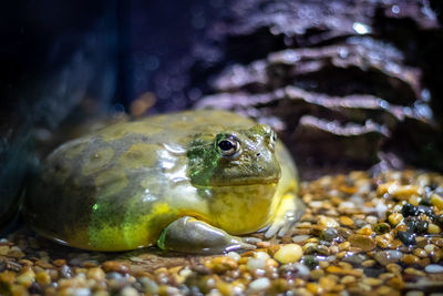
<svg viewBox="0 0 443 296">
<path fill-rule="evenodd" d="M 277 183 L 276 133 L 265 124 L 248 130 L 198 134 L 188 151 L 188 175 L 196 187 Z"/>
</svg>

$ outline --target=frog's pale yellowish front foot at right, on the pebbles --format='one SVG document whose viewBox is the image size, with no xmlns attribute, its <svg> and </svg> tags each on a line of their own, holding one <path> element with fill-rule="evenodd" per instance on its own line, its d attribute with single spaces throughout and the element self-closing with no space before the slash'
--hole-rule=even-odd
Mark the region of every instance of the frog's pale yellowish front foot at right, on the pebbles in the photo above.
<svg viewBox="0 0 443 296">
<path fill-rule="evenodd" d="M 305 204 L 293 194 L 286 194 L 277 210 L 276 217 L 265 233 L 266 238 L 277 234 L 284 236 L 305 212 Z"/>
</svg>

